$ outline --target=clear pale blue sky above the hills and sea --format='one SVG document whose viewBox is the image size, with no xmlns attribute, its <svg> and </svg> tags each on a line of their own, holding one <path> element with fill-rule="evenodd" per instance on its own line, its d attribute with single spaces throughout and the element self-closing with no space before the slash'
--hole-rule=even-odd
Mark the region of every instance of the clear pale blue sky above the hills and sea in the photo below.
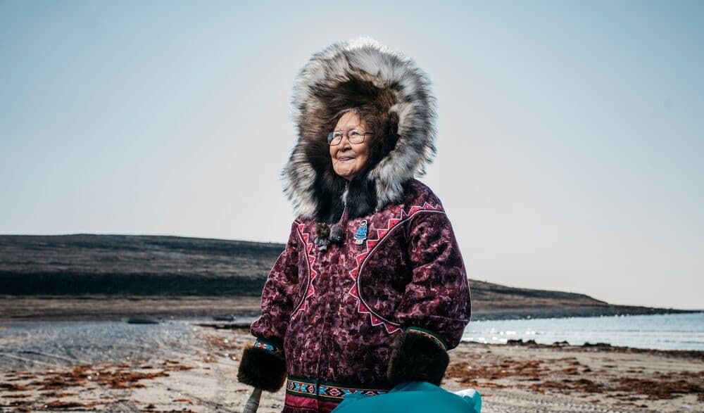
<svg viewBox="0 0 704 413">
<path fill-rule="evenodd" d="M 284 242 L 308 58 L 372 37 L 438 102 L 467 273 L 704 308 L 704 2 L 0 0 L 0 234 Z"/>
</svg>

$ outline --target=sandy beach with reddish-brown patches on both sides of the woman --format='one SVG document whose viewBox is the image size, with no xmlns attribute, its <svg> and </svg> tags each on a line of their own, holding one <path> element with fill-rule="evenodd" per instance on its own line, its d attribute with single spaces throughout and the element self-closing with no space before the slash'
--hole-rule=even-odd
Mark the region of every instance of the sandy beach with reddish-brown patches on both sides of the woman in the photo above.
<svg viewBox="0 0 704 413">
<path fill-rule="evenodd" d="M 216 328 L 227 327 L 227 328 Z M 0 410 L 240 412 L 232 324 L 171 320 L 0 323 Z M 483 412 L 704 412 L 704 352 L 462 343 L 443 387 L 472 387 Z M 265 393 L 260 412 L 284 394 Z"/>
</svg>

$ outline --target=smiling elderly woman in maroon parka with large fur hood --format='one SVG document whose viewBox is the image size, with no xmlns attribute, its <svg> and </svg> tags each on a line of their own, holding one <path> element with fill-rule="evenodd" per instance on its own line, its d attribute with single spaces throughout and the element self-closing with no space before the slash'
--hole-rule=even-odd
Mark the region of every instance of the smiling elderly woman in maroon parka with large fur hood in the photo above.
<svg viewBox="0 0 704 413">
<path fill-rule="evenodd" d="M 284 412 L 444 376 L 470 291 L 444 208 L 415 179 L 434 117 L 425 74 L 371 39 L 332 44 L 298 75 L 283 171 L 298 217 L 238 375 L 269 391 L 287 379 Z"/>
</svg>

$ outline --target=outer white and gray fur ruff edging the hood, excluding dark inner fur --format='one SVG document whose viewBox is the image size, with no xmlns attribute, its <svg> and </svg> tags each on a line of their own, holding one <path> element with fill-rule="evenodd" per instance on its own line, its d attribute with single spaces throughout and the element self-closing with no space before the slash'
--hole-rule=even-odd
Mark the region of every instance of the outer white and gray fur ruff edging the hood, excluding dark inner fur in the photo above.
<svg viewBox="0 0 704 413">
<path fill-rule="evenodd" d="M 389 89 L 396 101 L 389 112 L 398 115 L 398 141 L 367 174 L 375 184 L 376 210 L 403 196 L 403 183 L 425 174 L 436 153 L 436 108 L 430 81 L 409 58 L 382 46 L 373 39 L 360 38 L 339 42 L 315 53 L 301 69 L 294 84 L 291 117 L 298 132 L 298 143 L 284 166 L 284 192 L 302 217 L 314 217 L 316 172 L 304 151 L 306 139 L 325 139 L 316 131 L 315 113 L 325 105 L 316 91 L 335 93 L 341 82 L 352 78 Z M 332 160 L 330 160 L 332 163 Z"/>
</svg>

